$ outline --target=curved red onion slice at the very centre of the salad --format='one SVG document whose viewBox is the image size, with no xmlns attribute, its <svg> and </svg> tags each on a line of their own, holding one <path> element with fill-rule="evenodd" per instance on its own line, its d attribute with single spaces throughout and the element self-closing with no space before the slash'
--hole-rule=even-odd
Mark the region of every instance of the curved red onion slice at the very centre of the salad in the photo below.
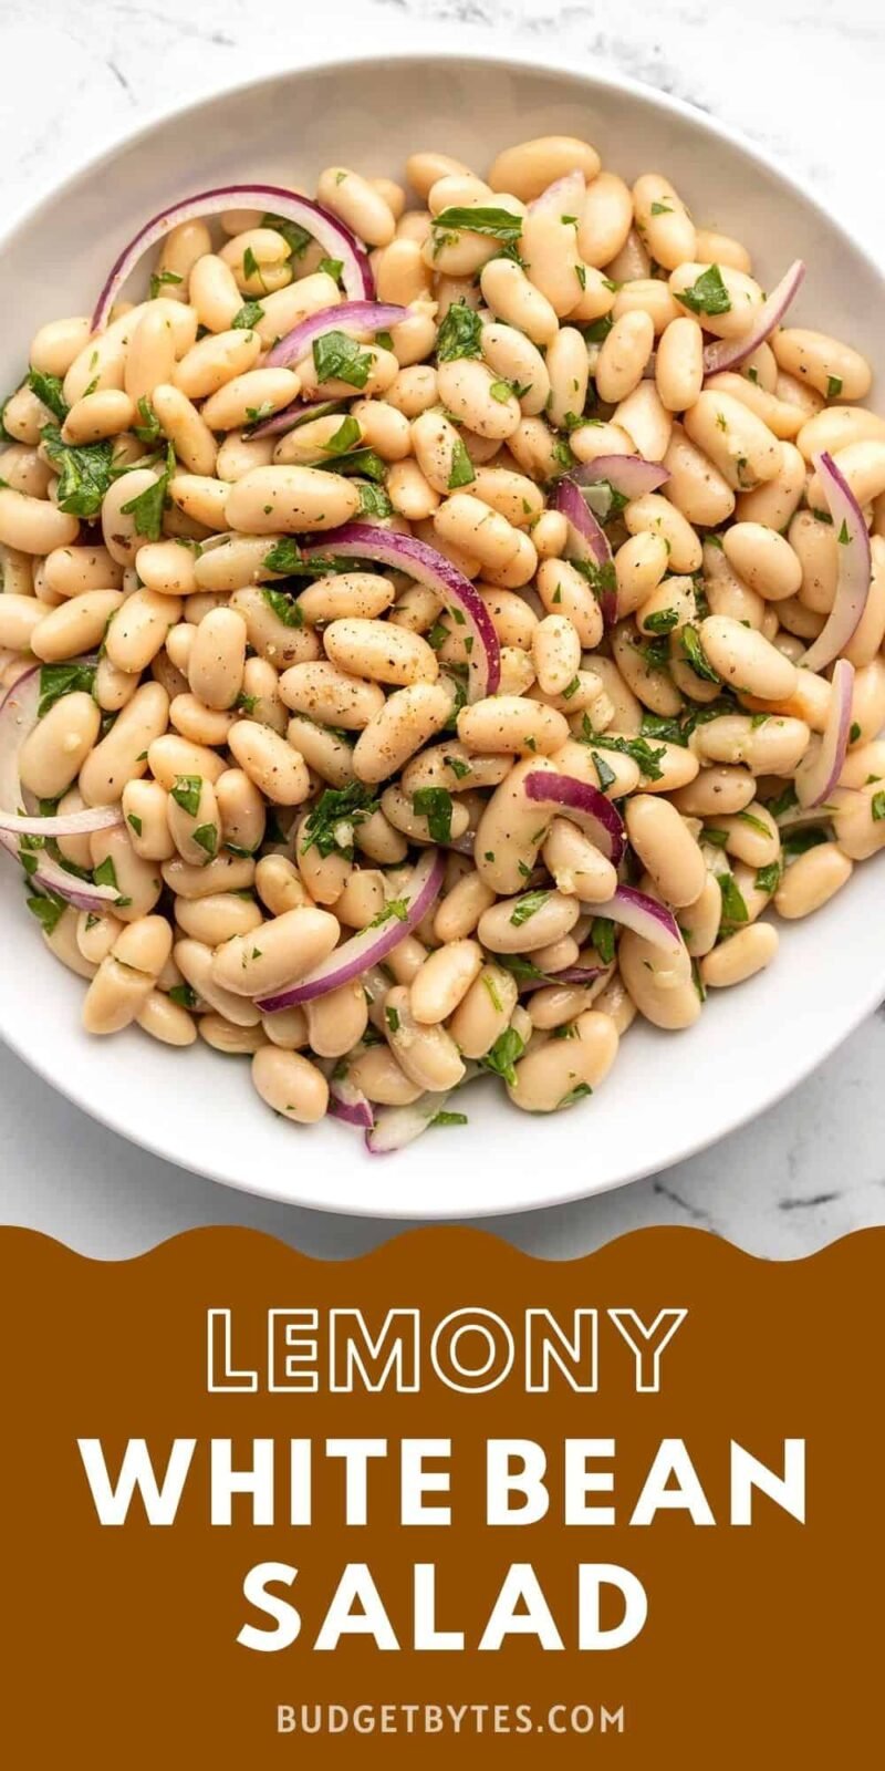
<svg viewBox="0 0 885 1771">
<path fill-rule="evenodd" d="M 582 505 L 581 492 L 575 498 Z M 451 560 L 419 542 L 414 535 L 398 535 L 395 530 L 381 530 L 370 522 L 345 522 L 340 530 L 329 530 L 319 542 L 301 549 L 304 560 L 313 554 L 340 554 L 342 558 L 375 560 L 389 565 L 395 572 L 407 572 L 419 584 L 427 584 L 453 609 L 455 622 L 467 629 L 473 639 L 469 661 L 467 700 L 480 701 L 487 694 L 496 694 L 501 682 L 501 646 L 492 616 L 485 607 L 480 592 L 469 577 L 458 572 Z"/>
</svg>

